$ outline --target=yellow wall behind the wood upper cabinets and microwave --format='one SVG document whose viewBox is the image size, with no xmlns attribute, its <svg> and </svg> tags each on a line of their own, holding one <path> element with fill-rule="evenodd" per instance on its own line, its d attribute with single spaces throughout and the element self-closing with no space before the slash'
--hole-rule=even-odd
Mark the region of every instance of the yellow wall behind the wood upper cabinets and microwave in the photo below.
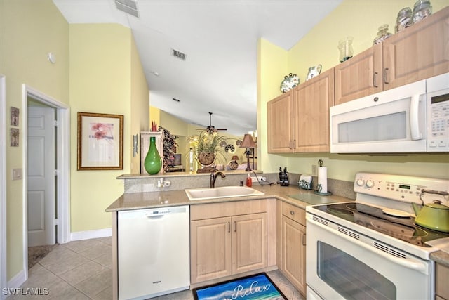
<svg viewBox="0 0 449 300">
<path fill-rule="evenodd" d="M 267 72 L 261 70 L 260 86 L 265 90 L 275 90 L 271 97 L 266 96 L 264 90 L 259 91 L 258 102 L 261 109 L 258 110 L 261 122 L 257 128 L 259 136 L 266 138 L 267 130 L 264 122 L 267 120 L 266 102 L 281 94 L 279 84 L 283 75 L 288 72 L 298 74 L 300 81 L 304 82 L 309 67 L 317 64 L 323 65 L 322 72 L 334 67 L 339 62 L 337 44 L 342 37 L 351 35 L 354 37 L 354 55 L 366 50 L 373 45 L 373 39 L 377 34 L 377 28 L 387 23 L 390 32 L 394 33 L 396 15 L 401 8 L 412 6 L 413 1 L 351 1 L 344 0 L 333 12 L 316 25 L 303 39 L 301 39 L 289 51 L 279 51 L 279 58 L 259 57 L 262 65 L 278 63 L 282 74 L 277 77 L 268 77 Z M 449 5 L 448 0 L 433 0 L 431 4 L 434 12 Z M 266 43 L 268 44 L 268 43 Z M 263 49 L 263 48 L 262 48 Z M 287 67 L 283 65 L 282 53 L 288 58 Z M 273 61 L 267 61 L 273 60 Z M 264 79 L 264 76 L 268 78 Z M 266 146 L 265 146 L 266 147 Z M 266 152 L 263 151 L 262 152 Z M 449 155 L 331 155 L 320 154 L 294 154 L 294 155 L 266 155 L 262 156 L 263 171 L 274 172 L 280 166 L 288 166 L 295 173 L 311 173 L 311 165 L 318 159 L 323 159 L 328 167 L 328 177 L 346 181 L 353 181 L 357 171 L 373 171 L 391 174 L 406 174 L 413 176 L 428 176 L 449 178 Z M 273 163 L 275 162 L 275 163 Z"/>
</svg>

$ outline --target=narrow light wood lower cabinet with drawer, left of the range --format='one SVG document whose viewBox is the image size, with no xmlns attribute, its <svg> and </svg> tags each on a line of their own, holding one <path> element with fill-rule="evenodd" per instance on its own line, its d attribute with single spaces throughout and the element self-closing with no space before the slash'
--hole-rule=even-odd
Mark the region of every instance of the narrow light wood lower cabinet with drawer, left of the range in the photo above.
<svg viewBox="0 0 449 300">
<path fill-rule="evenodd" d="M 282 203 L 281 272 L 305 295 L 306 227 L 305 211 Z"/>
</svg>

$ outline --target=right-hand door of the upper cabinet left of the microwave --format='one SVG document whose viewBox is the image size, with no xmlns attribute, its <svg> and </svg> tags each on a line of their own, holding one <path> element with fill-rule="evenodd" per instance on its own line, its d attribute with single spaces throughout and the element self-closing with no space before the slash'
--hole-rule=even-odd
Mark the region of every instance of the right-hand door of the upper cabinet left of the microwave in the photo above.
<svg viewBox="0 0 449 300">
<path fill-rule="evenodd" d="M 334 70 L 293 89 L 295 152 L 329 152 L 329 107 L 334 104 Z"/>
</svg>

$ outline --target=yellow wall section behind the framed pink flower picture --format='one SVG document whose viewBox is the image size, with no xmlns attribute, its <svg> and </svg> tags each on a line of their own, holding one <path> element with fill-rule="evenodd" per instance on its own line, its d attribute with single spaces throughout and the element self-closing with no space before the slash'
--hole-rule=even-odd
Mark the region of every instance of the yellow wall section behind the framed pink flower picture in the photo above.
<svg viewBox="0 0 449 300">
<path fill-rule="evenodd" d="M 116 177 L 130 173 L 131 32 L 114 24 L 72 24 L 69 40 L 72 153 L 77 112 L 124 115 L 123 170 L 76 171 L 72 155 L 71 231 L 110 228 L 105 208 L 123 193 L 123 182 Z"/>
</svg>

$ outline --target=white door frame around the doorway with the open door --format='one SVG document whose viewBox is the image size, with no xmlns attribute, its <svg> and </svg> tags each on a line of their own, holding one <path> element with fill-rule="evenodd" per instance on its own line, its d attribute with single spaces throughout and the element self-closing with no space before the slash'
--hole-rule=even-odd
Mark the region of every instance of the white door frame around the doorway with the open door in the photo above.
<svg viewBox="0 0 449 300">
<path fill-rule="evenodd" d="M 58 232 L 56 238 L 60 244 L 70 241 L 70 108 L 65 103 L 33 89 L 27 84 L 22 84 L 22 205 L 23 205 L 23 270 L 25 280 L 28 278 L 28 226 L 27 226 L 27 153 L 28 153 L 28 98 L 33 98 L 45 105 L 54 107 L 58 118 L 58 130 L 56 133 L 56 159 L 58 161 L 58 176 L 56 180 L 56 205 L 58 206 Z"/>
</svg>

